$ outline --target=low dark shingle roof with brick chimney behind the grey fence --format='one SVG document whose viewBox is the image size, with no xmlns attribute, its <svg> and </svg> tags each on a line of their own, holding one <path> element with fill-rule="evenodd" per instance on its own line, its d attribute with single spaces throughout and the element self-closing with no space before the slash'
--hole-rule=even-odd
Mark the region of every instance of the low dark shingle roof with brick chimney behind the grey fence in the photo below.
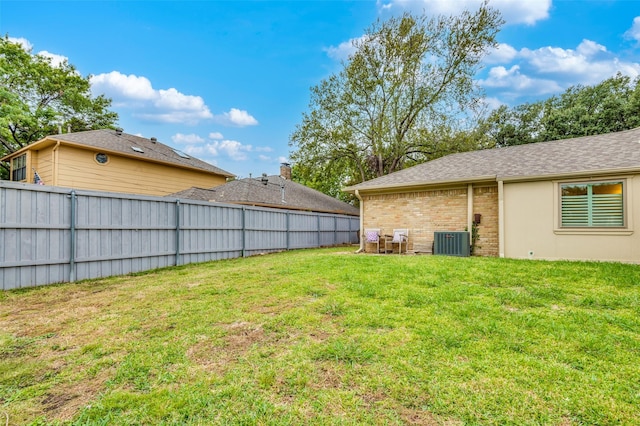
<svg viewBox="0 0 640 426">
<path fill-rule="evenodd" d="M 358 208 L 281 176 L 227 182 L 212 189 L 190 188 L 168 197 L 357 216 Z"/>
</svg>

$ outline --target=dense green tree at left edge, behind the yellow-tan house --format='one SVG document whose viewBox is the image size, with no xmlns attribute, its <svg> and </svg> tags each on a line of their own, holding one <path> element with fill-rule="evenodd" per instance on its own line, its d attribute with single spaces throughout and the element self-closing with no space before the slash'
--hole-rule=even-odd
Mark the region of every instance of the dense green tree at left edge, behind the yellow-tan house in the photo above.
<svg viewBox="0 0 640 426">
<path fill-rule="evenodd" d="M 34 55 L 8 37 L 0 37 L 0 157 L 47 135 L 113 127 L 111 100 L 91 95 L 90 76 L 64 61 Z M 0 163 L 0 178 L 9 165 Z"/>
</svg>

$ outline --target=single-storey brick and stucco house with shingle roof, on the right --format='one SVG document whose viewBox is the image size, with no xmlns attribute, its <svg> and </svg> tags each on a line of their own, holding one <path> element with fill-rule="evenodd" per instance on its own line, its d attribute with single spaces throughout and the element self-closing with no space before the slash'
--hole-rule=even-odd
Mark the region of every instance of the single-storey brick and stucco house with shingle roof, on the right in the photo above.
<svg viewBox="0 0 640 426">
<path fill-rule="evenodd" d="M 452 154 L 345 191 L 361 231 L 408 228 L 410 252 L 480 215 L 476 255 L 640 263 L 640 128 Z"/>
</svg>

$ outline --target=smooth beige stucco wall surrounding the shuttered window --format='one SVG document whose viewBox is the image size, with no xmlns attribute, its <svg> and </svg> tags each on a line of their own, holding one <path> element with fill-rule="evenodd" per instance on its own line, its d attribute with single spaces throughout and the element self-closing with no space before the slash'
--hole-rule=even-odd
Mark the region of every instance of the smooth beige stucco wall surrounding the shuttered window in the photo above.
<svg viewBox="0 0 640 426">
<path fill-rule="evenodd" d="M 561 229 L 558 182 L 505 183 L 505 256 L 640 263 L 640 235 L 635 229 L 640 224 L 640 177 L 623 178 L 627 190 L 627 227 L 622 230 Z"/>
</svg>

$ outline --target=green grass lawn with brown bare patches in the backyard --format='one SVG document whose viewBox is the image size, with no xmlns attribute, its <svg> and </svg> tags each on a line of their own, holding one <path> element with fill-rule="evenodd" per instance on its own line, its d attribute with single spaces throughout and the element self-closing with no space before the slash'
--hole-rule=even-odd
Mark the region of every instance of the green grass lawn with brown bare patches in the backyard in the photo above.
<svg viewBox="0 0 640 426">
<path fill-rule="evenodd" d="M 337 248 L 0 293 L 7 416 L 638 424 L 640 266 Z"/>
</svg>

